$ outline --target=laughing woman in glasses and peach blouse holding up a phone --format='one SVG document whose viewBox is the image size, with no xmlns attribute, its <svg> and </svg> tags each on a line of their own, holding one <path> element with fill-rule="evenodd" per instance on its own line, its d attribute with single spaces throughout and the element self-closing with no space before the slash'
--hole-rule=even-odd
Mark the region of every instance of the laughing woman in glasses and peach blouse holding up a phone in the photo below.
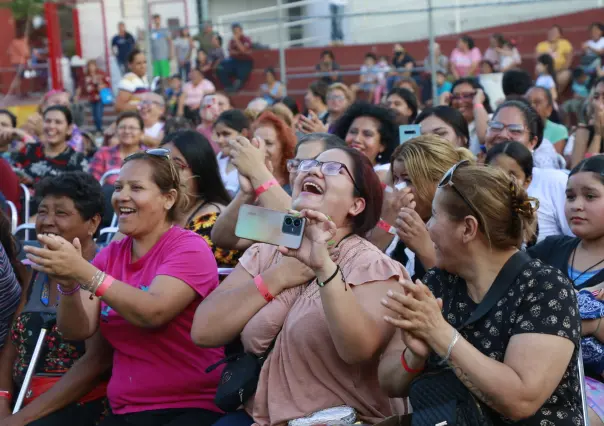
<svg viewBox="0 0 604 426">
<path fill-rule="evenodd" d="M 300 248 L 253 245 L 195 314 L 191 337 L 202 347 L 240 337 L 259 355 L 276 338 L 254 397 L 221 424 L 282 424 L 342 405 L 375 423 L 392 411 L 377 387 L 393 333 L 380 300 L 408 277 L 363 238 L 379 221 L 379 178 L 359 151 L 330 149 L 300 161 L 292 199 L 306 220 Z"/>
</svg>

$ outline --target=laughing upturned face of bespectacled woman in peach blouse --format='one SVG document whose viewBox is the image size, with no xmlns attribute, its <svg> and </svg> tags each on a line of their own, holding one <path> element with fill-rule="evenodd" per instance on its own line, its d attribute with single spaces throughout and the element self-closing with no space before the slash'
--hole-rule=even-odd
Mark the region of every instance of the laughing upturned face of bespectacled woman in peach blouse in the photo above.
<svg viewBox="0 0 604 426">
<path fill-rule="evenodd" d="M 336 161 L 348 167 L 354 176 L 354 164 L 342 150 L 330 149 L 320 154 L 317 161 Z M 318 192 L 309 183 L 319 188 Z M 310 192 L 313 191 L 313 192 Z M 345 170 L 340 170 L 337 176 L 324 175 L 319 167 L 308 172 L 298 172 L 292 194 L 292 208 L 297 211 L 304 209 L 316 210 L 330 216 L 338 228 L 347 224 L 349 216 L 356 216 L 365 209 L 365 200 L 355 197 L 354 184 Z"/>
</svg>

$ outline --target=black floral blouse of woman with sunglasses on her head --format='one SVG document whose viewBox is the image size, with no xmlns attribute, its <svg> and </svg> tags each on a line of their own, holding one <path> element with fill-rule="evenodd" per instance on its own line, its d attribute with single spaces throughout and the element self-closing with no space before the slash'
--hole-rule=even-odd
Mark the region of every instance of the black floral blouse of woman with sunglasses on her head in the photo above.
<svg viewBox="0 0 604 426">
<path fill-rule="evenodd" d="M 443 299 L 443 315 L 460 327 L 478 306 L 469 296 L 465 281 L 440 269 L 429 270 L 424 283 L 435 297 Z M 460 334 L 484 355 L 503 362 L 510 338 L 516 334 L 552 334 L 575 344 L 562 381 L 537 413 L 512 422 L 499 417 L 496 424 L 523 426 L 578 426 L 583 423 L 577 356 L 580 318 L 572 285 L 558 269 L 539 260 L 529 262 L 497 305 L 482 319 L 464 327 Z M 539 354 L 535 354 L 539 356 Z M 436 359 L 431 357 L 428 369 Z"/>
</svg>

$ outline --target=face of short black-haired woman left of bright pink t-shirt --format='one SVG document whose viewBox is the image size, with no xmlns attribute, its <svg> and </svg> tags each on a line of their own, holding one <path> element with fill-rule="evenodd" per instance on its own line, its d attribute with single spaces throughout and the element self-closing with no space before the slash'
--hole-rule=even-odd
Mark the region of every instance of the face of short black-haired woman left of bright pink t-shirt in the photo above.
<svg viewBox="0 0 604 426">
<path fill-rule="evenodd" d="M 54 234 L 73 242 L 91 239 L 100 218 L 84 220 L 73 200 L 66 196 L 49 195 L 42 199 L 36 216 L 36 234 Z"/>
</svg>

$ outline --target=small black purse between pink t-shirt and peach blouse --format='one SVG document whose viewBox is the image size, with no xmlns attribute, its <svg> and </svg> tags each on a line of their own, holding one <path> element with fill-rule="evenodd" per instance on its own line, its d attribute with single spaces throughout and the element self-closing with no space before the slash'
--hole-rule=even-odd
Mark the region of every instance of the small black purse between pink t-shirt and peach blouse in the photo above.
<svg viewBox="0 0 604 426">
<path fill-rule="evenodd" d="M 206 373 L 209 373 L 226 363 L 214 397 L 214 403 L 218 408 L 227 413 L 237 411 L 241 405 L 254 395 L 258 387 L 260 370 L 275 347 L 277 337 L 279 337 L 279 333 L 261 356 L 242 351 L 227 356 L 206 368 Z"/>
</svg>

